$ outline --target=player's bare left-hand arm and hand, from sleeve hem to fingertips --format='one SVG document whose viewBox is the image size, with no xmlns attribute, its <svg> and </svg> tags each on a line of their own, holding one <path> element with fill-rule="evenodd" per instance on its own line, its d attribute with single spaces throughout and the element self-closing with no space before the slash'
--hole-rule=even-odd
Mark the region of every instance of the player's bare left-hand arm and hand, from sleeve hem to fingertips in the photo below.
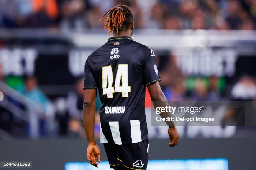
<svg viewBox="0 0 256 170">
<path fill-rule="evenodd" d="M 100 163 L 100 149 L 94 140 L 94 123 L 95 123 L 95 97 L 96 89 L 84 90 L 83 122 L 84 131 L 87 138 L 87 160 L 95 167 L 98 167 L 96 158 Z"/>
</svg>

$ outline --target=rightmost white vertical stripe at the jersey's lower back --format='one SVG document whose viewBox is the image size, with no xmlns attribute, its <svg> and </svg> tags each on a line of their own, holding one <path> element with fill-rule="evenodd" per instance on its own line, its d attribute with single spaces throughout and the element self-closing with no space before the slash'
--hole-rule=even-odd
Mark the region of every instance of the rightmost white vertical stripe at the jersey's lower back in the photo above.
<svg viewBox="0 0 256 170">
<path fill-rule="evenodd" d="M 141 142 L 141 123 L 139 120 L 130 120 L 132 143 Z"/>
</svg>

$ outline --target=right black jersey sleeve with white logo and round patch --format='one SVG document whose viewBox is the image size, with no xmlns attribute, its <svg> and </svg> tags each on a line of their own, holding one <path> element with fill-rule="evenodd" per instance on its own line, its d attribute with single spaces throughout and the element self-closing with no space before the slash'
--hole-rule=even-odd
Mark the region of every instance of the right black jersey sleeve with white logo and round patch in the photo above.
<svg viewBox="0 0 256 170">
<path fill-rule="evenodd" d="M 156 58 L 154 51 L 151 49 L 147 49 L 145 52 L 145 56 L 143 59 L 143 76 L 144 76 L 144 84 L 145 85 L 152 85 L 157 81 L 161 81 L 161 77 L 159 76 L 157 65 L 156 65 Z"/>
</svg>

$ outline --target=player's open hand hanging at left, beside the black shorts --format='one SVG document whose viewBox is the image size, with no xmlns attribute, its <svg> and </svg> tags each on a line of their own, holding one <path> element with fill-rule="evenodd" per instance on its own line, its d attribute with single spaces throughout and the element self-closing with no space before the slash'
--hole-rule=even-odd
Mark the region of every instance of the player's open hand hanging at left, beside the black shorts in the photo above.
<svg viewBox="0 0 256 170">
<path fill-rule="evenodd" d="M 91 165 L 98 167 L 96 157 L 98 158 L 98 162 L 100 163 L 100 148 L 95 143 L 88 144 L 87 160 Z"/>
</svg>

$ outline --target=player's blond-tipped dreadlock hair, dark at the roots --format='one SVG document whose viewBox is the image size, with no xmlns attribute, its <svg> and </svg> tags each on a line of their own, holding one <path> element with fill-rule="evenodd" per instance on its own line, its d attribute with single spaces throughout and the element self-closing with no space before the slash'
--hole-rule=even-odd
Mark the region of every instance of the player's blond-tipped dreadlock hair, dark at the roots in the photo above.
<svg viewBox="0 0 256 170">
<path fill-rule="evenodd" d="M 105 15 L 107 15 L 107 17 L 104 21 L 104 28 L 108 30 L 109 35 L 128 28 L 128 26 L 133 22 L 133 14 L 127 5 L 117 5 L 110 8 Z M 105 15 L 100 18 L 100 21 L 105 17 Z"/>
</svg>

